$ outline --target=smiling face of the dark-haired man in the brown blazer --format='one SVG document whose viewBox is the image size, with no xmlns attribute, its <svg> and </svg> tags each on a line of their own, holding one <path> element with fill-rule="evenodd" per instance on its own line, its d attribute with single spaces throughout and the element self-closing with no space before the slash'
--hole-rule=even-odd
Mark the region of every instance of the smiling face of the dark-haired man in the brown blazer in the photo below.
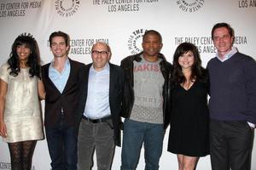
<svg viewBox="0 0 256 170">
<path fill-rule="evenodd" d="M 53 37 L 50 49 L 55 58 L 67 57 L 69 46 L 67 46 L 64 37 Z"/>
</svg>

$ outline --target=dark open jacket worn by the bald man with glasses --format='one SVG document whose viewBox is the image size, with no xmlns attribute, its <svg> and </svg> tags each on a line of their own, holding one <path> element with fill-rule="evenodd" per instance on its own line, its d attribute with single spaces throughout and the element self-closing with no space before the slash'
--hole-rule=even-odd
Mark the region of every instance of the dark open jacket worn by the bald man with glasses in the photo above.
<svg viewBox="0 0 256 170">
<path fill-rule="evenodd" d="M 85 69 L 85 79 L 83 82 L 83 88 L 81 90 L 81 98 L 79 99 L 79 115 L 80 121 L 84 114 L 84 107 L 85 102 L 87 99 L 87 91 L 88 91 L 88 78 L 89 78 L 89 71 L 90 65 L 86 65 Z M 111 111 L 111 117 L 113 122 L 113 131 L 114 131 L 114 142 L 116 145 L 120 146 L 120 111 L 122 105 L 122 98 L 123 98 L 123 90 L 124 90 L 124 71 L 118 65 L 113 65 L 109 63 L 109 106 Z"/>
</svg>

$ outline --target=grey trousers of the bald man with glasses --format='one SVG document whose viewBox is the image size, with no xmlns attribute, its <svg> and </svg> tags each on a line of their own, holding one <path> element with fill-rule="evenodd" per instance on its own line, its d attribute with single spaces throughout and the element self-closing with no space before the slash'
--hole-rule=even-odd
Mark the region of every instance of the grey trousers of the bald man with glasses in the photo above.
<svg viewBox="0 0 256 170">
<path fill-rule="evenodd" d="M 93 155 L 96 151 L 97 170 L 110 170 L 113 162 L 115 144 L 113 123 L 93 123 L 84 119 L 79 126 L 78 169 L 90 170 L 93 167 Z"/>
</svg>

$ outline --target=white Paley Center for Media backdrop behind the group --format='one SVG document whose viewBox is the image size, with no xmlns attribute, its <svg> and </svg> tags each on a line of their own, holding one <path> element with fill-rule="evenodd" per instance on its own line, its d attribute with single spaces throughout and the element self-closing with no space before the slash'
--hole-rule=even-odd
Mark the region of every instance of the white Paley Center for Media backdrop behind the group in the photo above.
<svg viewBox="0 0 256 170">
<path fill-rule="evenodd" d="M 172 62 L 179 43 L 192 42 L 199 48 L 206 66 L 216 53 L 211 30 L 217 22 L 230 23 L 236 35 L 234 46 L 256 59 L 255 19 L 256 0 L 0 0 L 0 64 L 9 58 L 15 37 L 24 32 L 37 40 L 42 63 L 50 62 L 53 56 L 49 35 L 53 31 L 65 31 L 71 37 L 71 59 L 88 64 L 92 45 L 107 42 L 113 53 L 111 62 L 119 65 L 121 59 L 142 50 L 144 32 L 154 29 L 163 37 L 161 52 L 167 60 Z M 161 170 L 177 169 L 176 156 L 166 151 L 168 131 L 160 159 Z M 254 140 L 254 146 L 255 143 Z M 121 149 L 117 147 L 113 169 L 119 169 L 120 155 Z M 38 141 L 32 169 L 49 170 L 49 163 L 46 140 Z M 143 166 L 142 150 L 137 169 Z M 9 169 L 8 146 L 0 141 L 0 170 Z M 202 157 L 197 169 L 211 169 L 210 157 Z M 255 161 L 252 169 L 256 169 Z"/>
</svg>

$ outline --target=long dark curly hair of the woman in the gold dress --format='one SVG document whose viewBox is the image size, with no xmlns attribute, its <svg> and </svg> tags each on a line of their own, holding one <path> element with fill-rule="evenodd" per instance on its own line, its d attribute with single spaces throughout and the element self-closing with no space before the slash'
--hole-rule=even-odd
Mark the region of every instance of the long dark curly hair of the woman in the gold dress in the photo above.
<svg viewBox="0 0 256 170">
<path fill-rule="evenodd" d="M 30 77 L 41 78 L 41 61 L 38 49 L 38 42 L 32 37 L 31 34 L 21 34 L 19 37 L 16 37 L 15 42 L 12 45 L 12 51 L 9 54 L 8 64 L 10 75 L 16 77 L 20 72 L 20 59 L 17 54 L 17 47 L 20 45 L 25 45 L 27 48 L 30 48 L 31 54 L 28 56 L 26 65 L 29 67 Z"/>
</svg>

